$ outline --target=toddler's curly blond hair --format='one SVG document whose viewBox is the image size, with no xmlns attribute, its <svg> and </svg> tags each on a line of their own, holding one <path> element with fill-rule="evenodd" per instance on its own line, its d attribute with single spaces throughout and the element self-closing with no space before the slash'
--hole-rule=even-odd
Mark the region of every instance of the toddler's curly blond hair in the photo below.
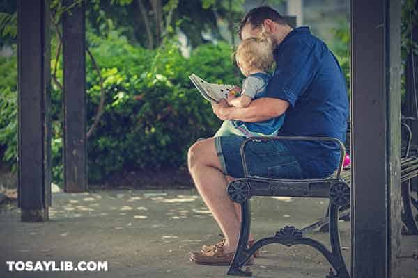
<svg viewBox="0 0 418 278">
<path fill-rule="evenodd" d="M 268 72 L 274 63 L 272 39 L 265 33 L 258 38 L 242 40 L 235 51 L 239 67 Z"/>
</svg>

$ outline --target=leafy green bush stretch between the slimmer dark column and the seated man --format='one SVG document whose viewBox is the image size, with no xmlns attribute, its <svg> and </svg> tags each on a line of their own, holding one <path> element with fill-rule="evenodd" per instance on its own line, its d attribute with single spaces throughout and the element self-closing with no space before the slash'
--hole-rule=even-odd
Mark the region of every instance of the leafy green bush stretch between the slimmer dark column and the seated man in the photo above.
<svg viewBox="0 0 418 278">
<path fill-rule="evenodd" d="M 124 45 L 100 44 L 93 49 L 102 66 L 107 104 L 88 140 L 92 181 L 122 170 L 185 165 L 189 145 L 196 138 L 212 136 L 220 123 L 187 76 L 196 72 L 213 82 L 234 80 L 226 44 L 201 45 L 189 60 L 171 42 L 155 51 Z M 107 56 L 115 56 L 114 49 L 120 60 L 106 65 Z M 88 69 L 88 118 L 92 119 L 100 88 L 91 65 Z"/>
</svg>

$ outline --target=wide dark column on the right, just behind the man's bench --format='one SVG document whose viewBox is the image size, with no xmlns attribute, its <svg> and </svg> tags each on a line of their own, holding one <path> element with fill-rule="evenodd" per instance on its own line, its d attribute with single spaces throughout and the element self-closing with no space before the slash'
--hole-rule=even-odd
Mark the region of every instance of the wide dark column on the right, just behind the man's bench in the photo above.
<svg viewBox="0 0 418 278">
<path fill-rule="evenodd" d="M 401 277 L 401 1 L 351 1 L 352 276 Z"/>
</svg>

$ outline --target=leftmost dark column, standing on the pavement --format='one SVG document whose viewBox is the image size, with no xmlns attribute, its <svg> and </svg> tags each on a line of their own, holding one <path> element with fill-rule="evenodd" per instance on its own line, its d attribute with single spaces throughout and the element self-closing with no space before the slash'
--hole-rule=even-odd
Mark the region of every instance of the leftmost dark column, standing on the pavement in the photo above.
<svg viewBox="0 0 418 278">
<path fill-rule="evenodd" d="M 48 220 L 51 205 L 49 1 L 19 0 L 19 206 L 22 222 Z"/>
</svg>

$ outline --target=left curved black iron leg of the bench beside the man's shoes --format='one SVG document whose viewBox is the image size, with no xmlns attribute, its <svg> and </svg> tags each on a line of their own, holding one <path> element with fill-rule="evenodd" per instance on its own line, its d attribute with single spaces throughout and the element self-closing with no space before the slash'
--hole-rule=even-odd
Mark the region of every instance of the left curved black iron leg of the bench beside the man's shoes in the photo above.
<svg viewBox="0 0 418 278">
<path fill-rule="evenodd" d="M 238 240 L 238 246 L 235 250 L 235 256 L 228 270 L 228 275 L 238 276 L 251 276 L 252 273 L 249 270 L 242 271 L 242 266 L 248 261 L 254 252 L 249 253 L 247 249 L 247 242 L 249 237 L 249 231 L 251 227 L 251 211 L 249 206 L 249 199 L 241 203 L 241 229 L 240 239 Z"/>
</svg>

